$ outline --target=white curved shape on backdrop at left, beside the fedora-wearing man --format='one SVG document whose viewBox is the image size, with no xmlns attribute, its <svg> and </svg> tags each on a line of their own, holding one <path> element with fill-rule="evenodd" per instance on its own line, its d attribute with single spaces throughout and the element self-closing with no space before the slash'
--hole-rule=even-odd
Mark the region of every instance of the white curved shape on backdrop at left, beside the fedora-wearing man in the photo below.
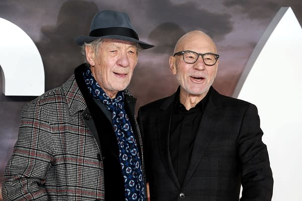
<svg viewBox="0 0 302 201">
<path fill-rule="evenodd" d="M 38 96 L 45 90 L 41 55 L 32 39 L 17 25 L 0 18 L 0 69 L 3 93 Z"/>
</svg>

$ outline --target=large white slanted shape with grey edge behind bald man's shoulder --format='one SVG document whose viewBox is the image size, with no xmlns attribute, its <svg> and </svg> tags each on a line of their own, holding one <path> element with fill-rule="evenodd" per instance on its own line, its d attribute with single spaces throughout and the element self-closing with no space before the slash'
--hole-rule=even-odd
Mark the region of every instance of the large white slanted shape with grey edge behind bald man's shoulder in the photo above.
<svg viewBox="0 0 302 201">
<path fill-rule="evenodd" d="M 282 7 L 256 45 L 234 97 L 255 104 L 274 177 L 274 201 L 302 200 L 302 29 Z"/>
</svg>

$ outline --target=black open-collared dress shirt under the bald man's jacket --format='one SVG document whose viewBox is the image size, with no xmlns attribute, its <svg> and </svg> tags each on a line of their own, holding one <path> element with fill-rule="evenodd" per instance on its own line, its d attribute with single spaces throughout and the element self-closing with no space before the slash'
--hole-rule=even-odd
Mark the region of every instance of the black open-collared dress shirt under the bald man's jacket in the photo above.
<svg viewBox="0 0 302 201">
<path fill-rule="evenodd" d="M 190 162 L 195 136 L 208 101 L 209 93 L 190 110 L 180 103 L 179 91 L 174 101 L 169 149 L 172 163 L 180 184 L 184 182 Z"/>
</svg>

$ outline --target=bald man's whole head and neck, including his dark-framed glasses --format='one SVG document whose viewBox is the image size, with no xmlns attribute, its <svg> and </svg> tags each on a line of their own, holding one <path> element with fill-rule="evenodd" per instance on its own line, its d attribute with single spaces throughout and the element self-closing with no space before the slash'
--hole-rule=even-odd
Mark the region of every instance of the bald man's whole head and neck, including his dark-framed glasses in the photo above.
<svg viewBox="0 0 302 201">
<path fill-rule="evenodd" d="M 216 77 L 218 58 L 214 41 L 202 31 L 188 32 L 177 41 L 169 67 L 176 75 L 180 102 L 187 110 L 207 94 Z"/>
</svg>

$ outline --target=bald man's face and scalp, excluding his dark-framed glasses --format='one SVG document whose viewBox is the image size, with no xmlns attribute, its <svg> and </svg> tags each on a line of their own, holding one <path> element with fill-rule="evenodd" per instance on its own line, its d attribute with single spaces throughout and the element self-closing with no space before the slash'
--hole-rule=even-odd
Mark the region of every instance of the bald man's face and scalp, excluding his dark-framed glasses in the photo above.
<svg viewBox="0 0 302 201">
<path fill-rule="evenodd" d="M 212 39 L 201 31 L 189 32 L 179 39 L 174 53 L 184 50 L 202 54 L 217 53 Z M 170 69 L 181 86 L 181 96 L 198 96 L 202 99 L 214 82 L 218 63 L 219 60 L 215 65 L 207 66 L 201 56 L 193 64 L 186 63 L 182 55 L 170 57 Z"/>
</svg>

